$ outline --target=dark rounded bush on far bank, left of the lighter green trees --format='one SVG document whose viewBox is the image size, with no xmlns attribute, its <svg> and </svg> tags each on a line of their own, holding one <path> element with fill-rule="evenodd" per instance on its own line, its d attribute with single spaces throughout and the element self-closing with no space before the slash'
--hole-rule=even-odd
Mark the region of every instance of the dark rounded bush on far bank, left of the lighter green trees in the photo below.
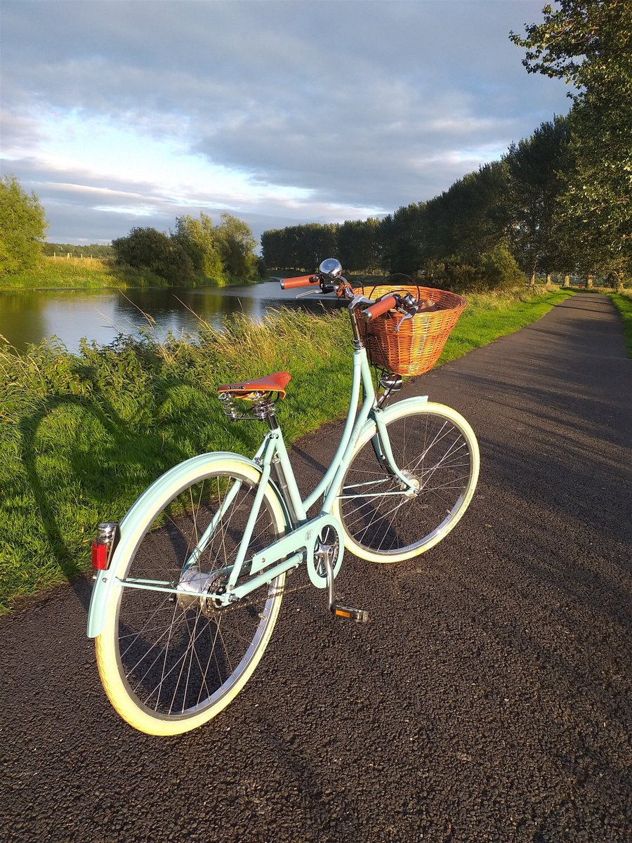
<svg viewBox="0 0 632 843">
<path fill-rule="evenodd" d="M 156 228 L 132 228 L 112 245 L 121 263 L 153 271 L 176 287 L 190 283 L 194 276 L 193 264 L 182 246 Z"/>
</svg>

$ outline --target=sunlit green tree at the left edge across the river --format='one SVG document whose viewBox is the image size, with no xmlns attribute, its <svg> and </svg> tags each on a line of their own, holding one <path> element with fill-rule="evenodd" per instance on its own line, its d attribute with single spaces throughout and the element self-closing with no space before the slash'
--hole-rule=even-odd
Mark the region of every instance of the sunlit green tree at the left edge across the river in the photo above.
<svg viewBox="0 0 632 843">
<path fill-rule="evenodd" d="M 0 179 L 0 276 L 36 266 L 48 228 L 44 208 L 13 175 Z"/>
</svg>

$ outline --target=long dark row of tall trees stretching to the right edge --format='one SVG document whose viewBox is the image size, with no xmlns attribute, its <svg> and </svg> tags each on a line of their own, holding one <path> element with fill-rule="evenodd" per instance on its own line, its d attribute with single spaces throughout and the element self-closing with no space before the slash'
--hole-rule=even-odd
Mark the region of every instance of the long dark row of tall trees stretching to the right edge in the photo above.
<svg viewBox="0 0 632 843">
<path fill-rule="evenodd" d="M 564 78 L 569 115 L 512 143 L 500 161 L 382 219 L 266 231 L 266 266 L 423 273 L 442 287 L 501 287 L 557 272 L 632 275 L 632 16 L 627 0 L 560 0 L 511 40 L 528 72 Z"/>
</svg>

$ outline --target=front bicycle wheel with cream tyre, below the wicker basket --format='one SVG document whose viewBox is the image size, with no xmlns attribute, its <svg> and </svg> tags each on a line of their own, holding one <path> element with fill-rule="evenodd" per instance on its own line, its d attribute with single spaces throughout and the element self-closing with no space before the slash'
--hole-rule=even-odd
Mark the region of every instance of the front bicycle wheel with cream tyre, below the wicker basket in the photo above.
<svg viewBox="0 0 632 843">
<path fill-rule="evenodd" d="M 469 506 L 479 446 L 463 416 L 441 404 L 394 405 L 386 429 L 402 475 L 389 470 L 377 426 L 359 439 L 335 500 L 345 547 L 373 562 L 399 562 L 441 541 Z"/>
</svg>

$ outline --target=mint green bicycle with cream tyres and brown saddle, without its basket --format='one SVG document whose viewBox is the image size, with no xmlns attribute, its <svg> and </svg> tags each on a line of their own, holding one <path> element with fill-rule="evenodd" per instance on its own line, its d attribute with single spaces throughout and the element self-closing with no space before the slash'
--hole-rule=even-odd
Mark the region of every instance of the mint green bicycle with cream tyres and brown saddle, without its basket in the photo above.
<svg viewBox="0 0 632 843">
<path fill-rule="evenodd" d="M 92 546 L 88 636 L 110 702 L 142 732 L 189 731 L 233 700 L 270 641 L 289 572 L 305 565 L 309 582 L 327 589 L 334 617 L 368 620 L 335 600 L 345 548 L 368 561 L 410 559 L 453 529 L 474 494 L 479 448 L 469 423 L 427 396 L 388 404 L 402 384 L 397 374 L 383 372 L 378 391 L 373 384 L 367 325 L 384 314 L 401 325 L 417 313 L 415 297 L 394 291 L 373 301 L 335 259 L 281 286 L 349 301 L 349 411 L 318 485 L 301 497 L 276 421 L 290 374 L 226 384 L 217 391 L 230 419 L 267 424 L 254 457 L 185 460 L 121 524 L 101 524 Z M 252 409 L 240 411 L 241 400 Z"/>
</svg>

